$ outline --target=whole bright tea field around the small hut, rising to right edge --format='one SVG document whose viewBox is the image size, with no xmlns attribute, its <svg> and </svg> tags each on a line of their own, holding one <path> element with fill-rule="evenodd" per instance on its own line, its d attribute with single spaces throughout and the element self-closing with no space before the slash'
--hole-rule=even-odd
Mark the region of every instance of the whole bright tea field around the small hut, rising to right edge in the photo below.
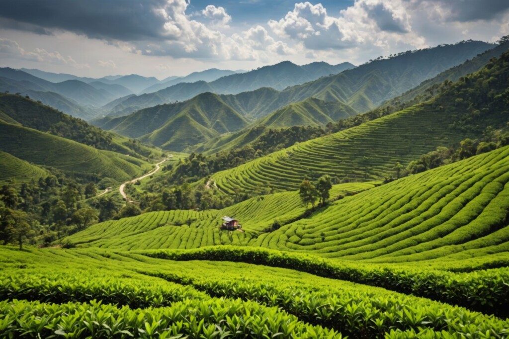
<svg viewBox="0 0 509 339">
<path fill-rule="evenodd" d="M 356 263 L 419 263 L 436 268 L 439 260 L 458 270 L 469 258 L 480 266 L 500 261 L 505 265 L 507 173 L 509 147 L 504 147 L 378 187 L 337 185 L 333 196 L 356 194 L 307 217 L 296 191 L 281 192 L 219 211 L 160 211 L 106 221 L 69 240 L 81 246 L 128 250 L 262 246 Z M 240 220 L 246 233 L 219 231 L 223 215 Z M 284 225 L 271 231 L 276 219 Z"/>
</svg>

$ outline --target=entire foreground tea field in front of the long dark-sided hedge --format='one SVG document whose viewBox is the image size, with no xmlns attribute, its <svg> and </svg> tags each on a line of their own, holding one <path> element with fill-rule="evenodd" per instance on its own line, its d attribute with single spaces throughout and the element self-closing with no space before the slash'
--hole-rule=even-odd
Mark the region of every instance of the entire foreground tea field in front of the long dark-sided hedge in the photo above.
<svg viewBox="0 0 509 339">
<path fill-rule="evenodd" d="M 462 307 L 262 265 L 2 247 L 0 266 L 4 337 L 504 337 L 509 328 Z"/>
</svg>

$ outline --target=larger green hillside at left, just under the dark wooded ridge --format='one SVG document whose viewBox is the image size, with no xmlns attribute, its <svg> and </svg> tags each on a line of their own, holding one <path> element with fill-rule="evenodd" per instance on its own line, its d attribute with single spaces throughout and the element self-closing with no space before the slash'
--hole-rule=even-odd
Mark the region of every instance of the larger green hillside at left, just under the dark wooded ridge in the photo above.
<svg viewBox="0 0 509 339">
<path fill-rule="evenodd" d="M 117 181 L 132 179 L 150 168 L 144 160 L 3 122 L 0 122 L 0 150 L 69 174 L 97 174 Z"/>
</svg>

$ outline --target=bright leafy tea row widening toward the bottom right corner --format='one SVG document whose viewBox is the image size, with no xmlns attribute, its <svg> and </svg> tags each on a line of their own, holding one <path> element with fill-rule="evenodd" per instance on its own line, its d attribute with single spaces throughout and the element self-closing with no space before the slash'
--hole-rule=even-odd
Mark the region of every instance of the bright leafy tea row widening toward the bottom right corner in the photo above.
<svg viewBox="0 0 509 339">
<path fill-rule="evenodd" d="M 146 273 L 191 285 L 213 297 L 242 298 L 277 306 L 302 321 L 333 328 L 354 338 L 384 337 L 391 330 L 422 328 L 466 336 L 480 336 L 487 331 L 494 337 L 509 334 L 509 323 L 492 316 L 413 296 L 364 291 L 362 287 L 336 289 L 224 275 L 204 278 L 164 271 Z"/>
</svg>

